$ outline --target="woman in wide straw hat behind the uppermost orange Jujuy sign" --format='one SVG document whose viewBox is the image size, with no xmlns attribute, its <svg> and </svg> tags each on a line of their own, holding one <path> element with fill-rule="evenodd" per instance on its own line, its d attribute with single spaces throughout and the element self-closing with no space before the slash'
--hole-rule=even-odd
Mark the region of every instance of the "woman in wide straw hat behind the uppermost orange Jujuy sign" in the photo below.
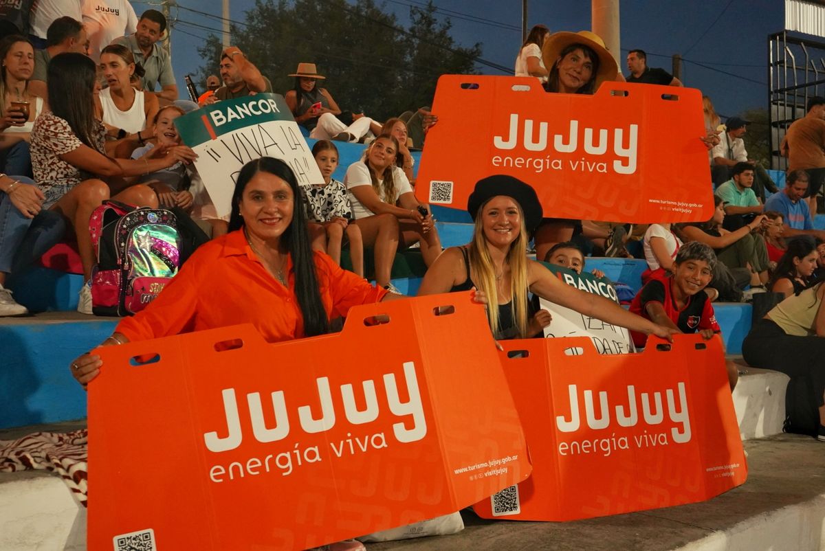
<svg viewBox="0 0 825 551">
<path fill-rule="evenodd" d="M 615 80 L 619 66 L 607 51 L 604 40 L 590 31 L 557 32 L 542 46 L 544 65 L 549 67 L 547 92 L 592 94 L 601 82 Z M 556 243 L 570 241 L 579 220 L 542 220 L 535 230 L 535 255 L 544 258 Z"/>
</svg>

